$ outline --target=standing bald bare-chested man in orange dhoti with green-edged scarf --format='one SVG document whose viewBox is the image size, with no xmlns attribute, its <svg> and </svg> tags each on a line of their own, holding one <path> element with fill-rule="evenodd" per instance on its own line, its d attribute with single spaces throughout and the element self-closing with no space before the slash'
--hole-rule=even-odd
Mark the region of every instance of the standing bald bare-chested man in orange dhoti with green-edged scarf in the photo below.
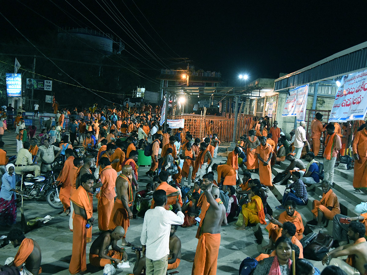
<svg viewBox="0 0 367 275">
<path fill-rule="evenodd" d="M 132 205 L 133 192 L 132 192 L 132 167 L 131 165 L 124 165 L 121 169 L 121 174 L 116 179 L 116 191 L 117 198 L 113 206 L 110 222 L 108 227 L 110 229 L 121 225 L 124 228 L 124 235 L 122 238 L 122 245 L 132 246 L 131 243 L 126 241 L 127 228 L 130 225 L 130 219 L 132 219 L 132 212 L 130 206 Z"/>
</svg>

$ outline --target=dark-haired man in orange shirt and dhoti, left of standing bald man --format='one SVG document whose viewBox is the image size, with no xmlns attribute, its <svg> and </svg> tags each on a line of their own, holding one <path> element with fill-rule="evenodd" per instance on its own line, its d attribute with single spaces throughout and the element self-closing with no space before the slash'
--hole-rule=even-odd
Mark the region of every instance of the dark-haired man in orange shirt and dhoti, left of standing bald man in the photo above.
<svg viewBox="0 0 367 275">
<path fill-rule="evenodd" d="M 108 158 L 102 157 L 99 160 L 99 166 L 102 168 L 100 173 L 102 187 L 98 200 L 98 228 L 106 231 L 109 229 L 108 225 L 116 196 L 117 172 L 112 168 Z"/>
</svg>

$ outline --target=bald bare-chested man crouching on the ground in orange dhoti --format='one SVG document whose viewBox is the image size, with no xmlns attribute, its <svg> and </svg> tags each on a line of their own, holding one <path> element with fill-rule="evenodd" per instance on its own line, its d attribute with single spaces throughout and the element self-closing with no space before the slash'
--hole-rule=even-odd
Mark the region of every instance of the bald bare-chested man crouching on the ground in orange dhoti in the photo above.
<svg viewBox="0 0 367 275">
<path fill-rule="evenodd" d="M 117 246 L 117 241 L 124 237 L 125 230 L 117 226 L 114 230 L 108 230 L 98 236 L 89 250 L 89 262 L 95 267 L 104 267 L 106 264 L 119 264 L 121 260 L 127 260 L 124 248 Z M 111 246 L 112 249 L 108 249 Z"/>
</svg>

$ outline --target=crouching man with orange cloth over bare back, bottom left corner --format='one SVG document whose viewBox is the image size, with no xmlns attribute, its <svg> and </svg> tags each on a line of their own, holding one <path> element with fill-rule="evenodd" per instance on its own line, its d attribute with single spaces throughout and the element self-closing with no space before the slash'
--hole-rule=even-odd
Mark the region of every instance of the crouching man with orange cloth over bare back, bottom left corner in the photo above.
<svg viewBox="0 0 367 275">
<path fill-rule="evenodd" d="M 14 265 L 19 270 L 23 268 L 24 274 L 29 271 L 33 275 L 37 275 L 42 271 L 41 265 L 41 249 L 36 241 L 26 238 L 23 231 L 19 228 L 14 228 L 8 235 L 9 241 L 14 247 L 19 246 L 15 258 L 7 258 L 5 265 Z M 23 274 L 23 273 L 22 273 Z"/>
</svg>

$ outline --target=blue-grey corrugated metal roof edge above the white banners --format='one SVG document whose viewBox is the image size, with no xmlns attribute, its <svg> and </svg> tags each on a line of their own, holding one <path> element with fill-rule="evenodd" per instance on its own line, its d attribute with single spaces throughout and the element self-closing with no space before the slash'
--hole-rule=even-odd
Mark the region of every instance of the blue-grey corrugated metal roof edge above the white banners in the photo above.
<svg viewBox="0 0 367 275">
<path fill-rule="evenodd" d="M 316 83 L 367 68 L 367 42 L 275 80 L 274 91 Z"/>
</svg>

